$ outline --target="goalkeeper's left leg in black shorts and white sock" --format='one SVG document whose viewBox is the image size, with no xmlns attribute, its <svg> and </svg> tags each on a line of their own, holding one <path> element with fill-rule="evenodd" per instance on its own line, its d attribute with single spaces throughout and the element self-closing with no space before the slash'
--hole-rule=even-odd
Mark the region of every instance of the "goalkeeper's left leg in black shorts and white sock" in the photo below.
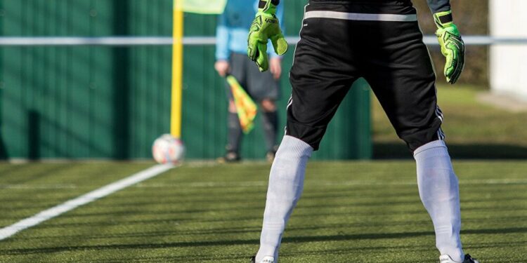
<svg viewBox="0 0 527 263">
<path fill-rule="evenodd" d="M 306 11 L 322 6 L 327 4 L 310 4 Z M 257 263 L 266 256 L 278 259 L 283 231 L 304 187 L 306 163 L 356 80 L 352 36 L 346 24 L 319 18 L 303 22 L 289 74 L 292 97 L 287 104 L 286 135 L 269 176 Z"/>
</svg>

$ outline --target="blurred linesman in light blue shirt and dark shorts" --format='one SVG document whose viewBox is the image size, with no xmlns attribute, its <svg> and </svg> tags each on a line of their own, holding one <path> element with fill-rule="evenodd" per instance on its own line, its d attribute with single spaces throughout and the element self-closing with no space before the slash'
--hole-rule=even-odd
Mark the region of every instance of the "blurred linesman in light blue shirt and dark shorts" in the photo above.
<svg viewBox="0 0 527 263">
<path fill-rule="evenodd" d="M 249 4 L 247 4 L 249 3 Z M 274 159 L 277 146 L 278 114 L 275 101 L 278 100 L 278 80 L 282 74 L 280 55 L 271 55 L 270 72 L 261 73 L 254 63 L 247 58 L 247 31 L 251 26 L 254 14 L 258 10 L 258 0 L 228 0 L 225 11 L 219 16 L 216 29 L 216 63 L 214 68 L 220 76 L 233 75 L 247 93 L 259 102 L 263 134 L 265 136 L 269 161 Z M 283 8 L 278 8 L 277 15 L 282 18 Z M 271 44 L 270 44 L 271 45 Z M 272 50 L 270 46 L 269 50 Z M 221 162 L 240 161 L 240 142 L 242 127 L 238 119 L 233 94 L 228 83 L 228 138 L 226 154 Z"/>
</svg>

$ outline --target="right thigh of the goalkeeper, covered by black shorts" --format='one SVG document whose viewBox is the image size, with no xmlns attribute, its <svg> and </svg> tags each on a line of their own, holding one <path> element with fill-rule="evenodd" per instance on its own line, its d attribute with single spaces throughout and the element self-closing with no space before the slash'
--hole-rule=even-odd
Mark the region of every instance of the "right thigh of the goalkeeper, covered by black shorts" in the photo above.
<svg viewBox="0 0 527 263">
<path fill-rule="evenodd" d="M 434 67 L 417 22 L 379 23 L 369 34 L 379 39 L 365 48 L 365 79 L 398 136 L 412 151 L 443 139 Z"/>
</svg>

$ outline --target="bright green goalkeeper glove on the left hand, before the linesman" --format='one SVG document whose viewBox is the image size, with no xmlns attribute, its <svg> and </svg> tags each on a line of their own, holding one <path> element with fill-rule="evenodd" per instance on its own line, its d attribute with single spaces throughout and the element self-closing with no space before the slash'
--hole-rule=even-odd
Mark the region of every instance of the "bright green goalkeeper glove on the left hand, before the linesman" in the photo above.
<svg viewBox="0 0 527 263">
<path fill-rule="evenodd" d="M 247 55 L 256 62 L 261 72 L 269 68 L 267 58 L 267 41 L 271 39 L 275 53 L 283 55 L 287 51 L 287 42 L 285 41 L 280 23 L 276 18 L 276 6 L 278 0 L 260 0 L 258 13 L 252 21 L 249 29 L 249 38 L 247 39 Z"/>
</svg>

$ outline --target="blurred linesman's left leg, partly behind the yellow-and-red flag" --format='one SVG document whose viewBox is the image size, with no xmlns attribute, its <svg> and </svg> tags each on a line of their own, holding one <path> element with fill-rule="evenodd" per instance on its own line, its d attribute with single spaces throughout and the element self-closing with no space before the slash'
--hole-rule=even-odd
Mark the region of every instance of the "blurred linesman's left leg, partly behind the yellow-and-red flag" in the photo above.
<svg viewBox="0 0 527 263">
<path fill-rule="evenodd" d="M 238 82 L 243 86 L 246 82 L 245 67 L 247 63 L 244 58 L 246 55 L 233 53 L 230 56 L 230 74 L 233 75 Z M 230 90 L 230 85 L 226 82 L 226 93 L 228 97 L 228 117 L 227 117 L 227 144 L 226 154 L 221 158 L 221 161 L 233 162 L 240 160 L 240 144 L 242 141 L 242 126 L 240 126 L 240 119 L 238 119 L 238 112 L 234 104 L 233 93 Z"/>
</svg>

